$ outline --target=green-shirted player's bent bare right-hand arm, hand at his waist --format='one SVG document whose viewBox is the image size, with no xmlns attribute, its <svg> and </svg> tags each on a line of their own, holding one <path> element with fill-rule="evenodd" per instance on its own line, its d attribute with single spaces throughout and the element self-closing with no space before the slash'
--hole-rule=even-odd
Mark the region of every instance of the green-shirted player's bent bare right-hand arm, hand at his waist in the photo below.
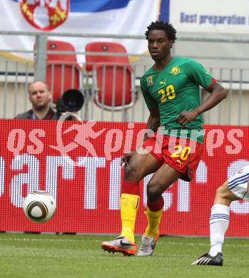
<svg viewBox="0 0 249 278">
<path fill-rule="evenodd" d="M 183 111 L 176 118 L 177 123 L 179 123 L 184 128 L 184 126 L 187 123 L 190 123 L 191 120 L 194 120 L 203 112 L 210 110 L 227 96 L 225 88 L 223 88 L 223 86 L 217 82 L 213 84 L 208 92 L 210 93 L 210 96 L 206 99 L 206 101 L 192 111 Z"/>
</svg>

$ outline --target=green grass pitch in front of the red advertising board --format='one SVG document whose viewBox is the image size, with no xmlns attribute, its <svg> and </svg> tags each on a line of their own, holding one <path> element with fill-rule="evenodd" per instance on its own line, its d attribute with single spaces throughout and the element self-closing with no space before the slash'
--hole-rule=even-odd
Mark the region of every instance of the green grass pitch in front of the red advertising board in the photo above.
<svg viewBox="0 0 249 278">
<path fill-rule="evenodd" d="M 190 265 L 209 250 L 208 238 L 161 237 L 153 257 L 103 252 L 101 242 L 112 239 L 0 234 L 0 277 L 248 277 L 249 240 L 226 239 L 223 267 L 210 267 Z"/>
</svg>

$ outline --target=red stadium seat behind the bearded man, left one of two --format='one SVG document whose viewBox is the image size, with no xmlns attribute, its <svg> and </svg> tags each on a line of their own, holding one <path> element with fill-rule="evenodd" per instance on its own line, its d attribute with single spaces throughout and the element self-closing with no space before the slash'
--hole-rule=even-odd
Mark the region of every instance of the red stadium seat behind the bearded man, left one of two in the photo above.
<svg viewBox="0 0 249 278">
<path fill-rule="evenodd" d="M 53 93 L 53 102 L 56 103 L 64 91 L 79 88 L 81 68 L 77 63 L 75 48 L 71 43 L 48 41 L 47 51 L 68 52 L 47 53 L 46 83 Z"/>
</svg>

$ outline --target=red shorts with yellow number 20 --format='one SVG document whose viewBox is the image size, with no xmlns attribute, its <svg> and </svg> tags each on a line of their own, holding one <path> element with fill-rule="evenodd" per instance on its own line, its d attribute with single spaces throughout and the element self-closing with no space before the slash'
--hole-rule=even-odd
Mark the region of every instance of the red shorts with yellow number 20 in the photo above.
<svg viewBox="0 0 249 278">
<path fill-rule="evenodd" d="M 181 180 L 190 181 L 200 162 L 203 144 L 186 138 L 168 135 L 153 135 L 144 143 L 143 148 L 153 155 L 158 164 L 170 165 L 181 173 Z"/>
</svg>

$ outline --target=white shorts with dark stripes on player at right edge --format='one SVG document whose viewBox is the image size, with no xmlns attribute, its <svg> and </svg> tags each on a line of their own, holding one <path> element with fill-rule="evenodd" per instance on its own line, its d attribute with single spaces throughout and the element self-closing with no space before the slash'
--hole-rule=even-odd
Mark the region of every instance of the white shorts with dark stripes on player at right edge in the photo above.
<svg viewBox="0 0 249 278">
<path fill-rule="evenodd" d="M 249 180 L 249 168 L 248 166 L 241 168 L 235 175 L 229 177 L 228 187 L 233 194 L 240 199 L 249 201 L 248 194 L 248 180 Z"/>
</svg>

